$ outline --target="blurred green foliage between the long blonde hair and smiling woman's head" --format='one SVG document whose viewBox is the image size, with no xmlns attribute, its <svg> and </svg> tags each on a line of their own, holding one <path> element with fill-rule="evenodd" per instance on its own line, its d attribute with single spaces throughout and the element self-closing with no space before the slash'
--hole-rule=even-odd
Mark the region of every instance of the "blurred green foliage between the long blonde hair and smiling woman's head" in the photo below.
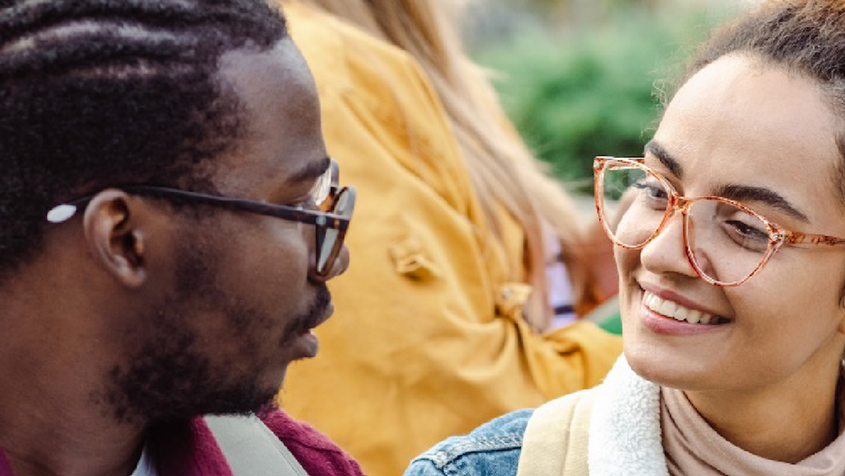
<svg viewBox="0 0 845 476">
<path fill-rule="evenodd" d="M 725 13 L 624 8 L 598 26 L 533 25 L 477 51 L 505 111 L 553 173 L 591 188 L 592 157 L 637 156 L 657 127 L 658 91 Z"/>
</svg>

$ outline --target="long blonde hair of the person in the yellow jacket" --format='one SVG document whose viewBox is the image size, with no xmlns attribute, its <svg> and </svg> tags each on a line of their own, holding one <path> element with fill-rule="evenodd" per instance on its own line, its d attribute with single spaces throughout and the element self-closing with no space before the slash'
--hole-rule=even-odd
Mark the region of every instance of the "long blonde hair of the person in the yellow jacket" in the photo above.
<svg viewBox="0 0 845 476">
<path fill-rule="evenodd" d="M 504 116 L 486 75 L 466 56 L 455 27 L 456 0 L 282 0 L 313 4 L 415 57 L 437 90 L 455 132 L 472 184 L 493 233 L 496 204 L 521 224 L 526 236 L 528 283 L 534 292 L 526 320 L 545 329 L 547 304 L 543 223 L 557 234 L 580 309 L 594 304 L 584 263 L 583 225 L 570 197 L 549 178 Z M 511 270 L 511 278 L 521 270 Z"/>
</svg>

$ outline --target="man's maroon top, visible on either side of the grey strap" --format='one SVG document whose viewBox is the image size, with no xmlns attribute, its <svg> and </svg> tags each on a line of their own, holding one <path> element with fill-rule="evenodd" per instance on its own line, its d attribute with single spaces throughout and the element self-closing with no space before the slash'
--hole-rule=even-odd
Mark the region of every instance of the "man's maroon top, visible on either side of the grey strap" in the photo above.
<svg viewBox="0 0 845 476">
<path fill-rule="evenodd" d="M 309 476 L 363 476 L 358 463 L 308 424 L 281 411 L 261 417 Z M 232 476 L 226 458 L 203 419 L 150 431 L 150 458 L 159 476 Z M 14 476 L 0 451 L 0 476 Z"/>
</svg>

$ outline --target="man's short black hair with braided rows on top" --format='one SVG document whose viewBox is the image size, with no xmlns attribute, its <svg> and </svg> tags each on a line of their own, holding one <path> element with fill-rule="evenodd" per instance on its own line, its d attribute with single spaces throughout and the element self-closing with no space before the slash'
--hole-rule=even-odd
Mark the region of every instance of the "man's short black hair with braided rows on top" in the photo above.
<svg viewBox="0 0 845 476">
<path fill-rule="evenodd" d="M 199 183 L 242 135 L 221 56 L 286 36 L 262 0 L 0 0 L 0 282 L 41 249 L 54 205 Z"/>
</svg>

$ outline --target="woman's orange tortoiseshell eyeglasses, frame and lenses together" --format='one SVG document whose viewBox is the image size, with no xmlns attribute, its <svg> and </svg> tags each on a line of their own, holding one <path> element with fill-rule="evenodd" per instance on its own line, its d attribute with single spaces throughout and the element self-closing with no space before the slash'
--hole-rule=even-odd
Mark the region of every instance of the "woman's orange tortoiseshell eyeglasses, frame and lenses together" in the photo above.
<svg viewBox="0 0 845 476">
<path fill-rule="evenodd" d="M 623 248 L 641 249 L 681 211 L 687 259 L 713 285 L 748 281 L 784 244 L 845 244 L 845 238 L 787 230 L 734 200 L 679 195 L 643 161 L 608 156 L 593 161 L 596 209 L 605 233 Z M 615 202 L 623 195 L 630 205 L 614 220 Z"/>
</svg>

